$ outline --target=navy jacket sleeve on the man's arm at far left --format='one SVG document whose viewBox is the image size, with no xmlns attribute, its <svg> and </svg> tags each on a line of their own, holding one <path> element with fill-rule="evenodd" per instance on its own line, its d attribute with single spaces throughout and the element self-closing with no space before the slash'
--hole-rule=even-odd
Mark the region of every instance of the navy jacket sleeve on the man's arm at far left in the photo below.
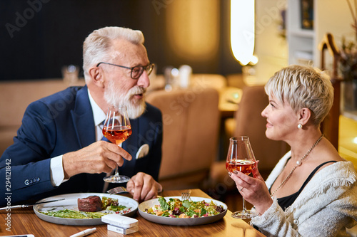
<svg viewBox="0 0 357 237">
<path fill-rule="evenodd" d="M 0 158 L 0 177 L 6 180 L 5 192 L 11 203 L 34 199 L 51 191 L 50 154 L 55 144 L 55 122 L 51 110 L 43 102 L 33 102 L 26 109 L 22 125 Z M 6 200 L 0 197 L 3 206 Z"/>
</svg>

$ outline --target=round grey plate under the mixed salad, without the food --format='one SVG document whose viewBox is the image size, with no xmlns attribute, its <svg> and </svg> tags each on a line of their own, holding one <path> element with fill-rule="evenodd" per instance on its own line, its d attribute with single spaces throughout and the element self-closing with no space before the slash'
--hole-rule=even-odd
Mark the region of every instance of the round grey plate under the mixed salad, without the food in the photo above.
<svg viewBox="0 0 357 237">
<path fill-rule="evenodd" d="M 169 201 L 169 199 L 180 199 L 181 196 L 166 196 L 165 199 L 166 201 Z M 139 204 L 139 214 L 146 218 L 148 221 L 152 221 L 155 223 L 161 223 L 164 225 L 171 225 L 171 226 L 198 226 L 198 225 L 203 225 L 207 223 L 213 223 L 215 221 L 220 220 L 223 218 L 223 216 L 226 215 L 227 213 L 227 205 L 224 204 L 221 201 L 214 200 L 214 199 L 206 199 L 203 197 L 198 197 L 198 196 L 191 196 L 191 201 L 206 201 L 206 202 L 211 202 L 213 201 L 214 204 L 217 206 L 222 206 L 224 211 L 218 215 L 215 216 L 204 216 L 204 217 L 197 217 L 197 218 L 171 218 L 171 217 L 165 217 L 165 216 L 155 216 L 146 213 L 144 210 L 145 209 L 150 209 L 154 205 L 159 204 L 159 199 L 151 199 L 148 201 L 144 201 L 141 204 Z"/>
</svg>

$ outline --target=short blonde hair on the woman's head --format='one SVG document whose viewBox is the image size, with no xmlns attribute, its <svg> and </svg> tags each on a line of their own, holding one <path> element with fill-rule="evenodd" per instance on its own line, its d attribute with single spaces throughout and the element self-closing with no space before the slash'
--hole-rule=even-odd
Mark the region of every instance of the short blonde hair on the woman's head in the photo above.
<svg viewBox="0 0 357 237">
<path fill-rule="evenodd" d="M 333 104 L 330 76 L 318 68 L 289 65 L 278 70 L 265 85 L 267 95 L 280 102 L 288 102 L 294 112 L 306 107 L 311 110 L 311 121 L 321 124 Z"/>
</svg>

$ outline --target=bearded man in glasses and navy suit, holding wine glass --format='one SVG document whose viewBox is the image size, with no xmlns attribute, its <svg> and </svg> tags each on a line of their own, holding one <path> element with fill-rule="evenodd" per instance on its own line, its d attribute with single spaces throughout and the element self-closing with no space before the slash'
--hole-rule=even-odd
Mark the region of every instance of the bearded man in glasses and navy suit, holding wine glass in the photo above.
<svg viewBox="0 0 357 237">
<path fill-rule="evenodd" d="M 1 191 L 11 203 L 56 194 L 102 192 L 114 184 L 103 177 L 116 164 L 131 179 L 126 184 L 134 199 L 156 197 L 161 164 L 161 112 L 144 101 L 149 87 L 149 62 L 144 36 L 129 28 L 105 27 L 84 41 L 86 86 L 31 103 L 11 145 L 0 159 Z M 122 148 L 102 141 L 101 127 L 110 105 L 126 105 L 132 135 Z M 140 147 L 148 147 L 143 149 Z M 4 189 L 1 189 L 4 190 Z"/>
</svg>

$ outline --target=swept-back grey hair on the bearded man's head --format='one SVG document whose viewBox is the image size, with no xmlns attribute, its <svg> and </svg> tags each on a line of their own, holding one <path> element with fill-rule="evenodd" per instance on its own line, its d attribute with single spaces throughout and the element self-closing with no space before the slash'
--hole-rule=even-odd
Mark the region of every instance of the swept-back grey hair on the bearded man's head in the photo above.
<svg viewBox="0 0 357 237">
<path fill-rule="evenodd" d="M 111 52 L 111 46 L 115 39 L 121 38 L 134 44 L 144 44 L 143 33 L 130 28 L 108 26 L 89 34 L 83 43 L 83 70 L 86 81 L 89 80 L 89 68 L 114 57 L 115 52 Z"/>
</svg>

